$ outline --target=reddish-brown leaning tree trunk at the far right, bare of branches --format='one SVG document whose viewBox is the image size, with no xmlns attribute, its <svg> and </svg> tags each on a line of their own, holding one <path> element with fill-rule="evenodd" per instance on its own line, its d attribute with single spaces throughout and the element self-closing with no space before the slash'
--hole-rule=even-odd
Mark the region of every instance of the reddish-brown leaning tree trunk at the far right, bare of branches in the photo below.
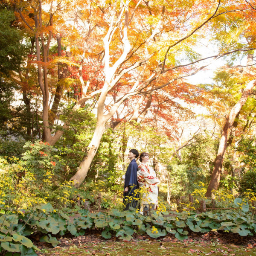
<svg viewBox="0 0 256 256">
<path fill-rule="evenodd" d="M 205 194 L 206 197 L 211 197 L 212 196 L 212 189 L 218 189 L 219 186 L 219 181 L 221 177 L 221 168 L 223 165 L 223 160 L 224 160 L 224 154 L 227 148 L 227 140 L 228 136 L 230 134 L 230 129 L 233 126 L 234 120 L 236 118 L 236 115 L 239 113 L 245 102 L 247 101 L 253 87 L 256 85 L 256 80 L 250 81 L 247 86 L 244 89 L 244 92 L 239 99 L 239 101 L 236 103 L 236 105 L 231 109 L 229 116 L 227 118 L 227 121 L 224 125 L 222 134 L 221 134 L 221 139 L 218 147 L 218 153 L 215 158 L 214 162 L 214 168 L 212 171 L 212 177 L 209 183 L 209 186 L 207 188 L 207 192 Z"/>
</svg>

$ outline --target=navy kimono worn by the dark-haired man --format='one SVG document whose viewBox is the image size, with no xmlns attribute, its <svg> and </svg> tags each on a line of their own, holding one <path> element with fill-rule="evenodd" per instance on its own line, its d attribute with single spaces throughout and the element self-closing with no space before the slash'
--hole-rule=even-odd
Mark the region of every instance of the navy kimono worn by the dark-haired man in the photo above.
<svg viewBox="0 0 256 256">
<path fill-rule="evenodd" d="M 129 207 L 137 208 L 139 207 L 139 201 L 136 199 L 131 199 L 129 197 L 139 198 L 140 195 L 137 193 L 137 195 L 134 195 L 134 190 L 139 189 L 139 184 L 137 181 L 137 170 L 138 165 L 136 163 L 136 160 L 131 160 L 131 163 L 129 164 L 126 173 L 125 173 L 125 186 L 124 189 L 128 186 L 129 190 L 128 192 L 123 193 L 123 203 L 125 204 L 124 210 L 129 210 Z M 127 200 L 125 200 L 127 199 Z"/>
</svg>

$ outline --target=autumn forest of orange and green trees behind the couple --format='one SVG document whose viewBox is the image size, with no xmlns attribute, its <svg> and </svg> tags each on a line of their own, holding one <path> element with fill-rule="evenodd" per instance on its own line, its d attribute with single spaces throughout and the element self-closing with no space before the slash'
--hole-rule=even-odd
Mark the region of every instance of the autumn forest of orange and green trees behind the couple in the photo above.
<svg viewBox="0 0 256 256">
<path fill-rule="evenodd" d="M 165 209 L 191 194 L 253 202 L 255 11 L 249 0 L 1 1 L 1 213 L 121 210 L 131 148 L 149 153 Z"/>
</svg>

